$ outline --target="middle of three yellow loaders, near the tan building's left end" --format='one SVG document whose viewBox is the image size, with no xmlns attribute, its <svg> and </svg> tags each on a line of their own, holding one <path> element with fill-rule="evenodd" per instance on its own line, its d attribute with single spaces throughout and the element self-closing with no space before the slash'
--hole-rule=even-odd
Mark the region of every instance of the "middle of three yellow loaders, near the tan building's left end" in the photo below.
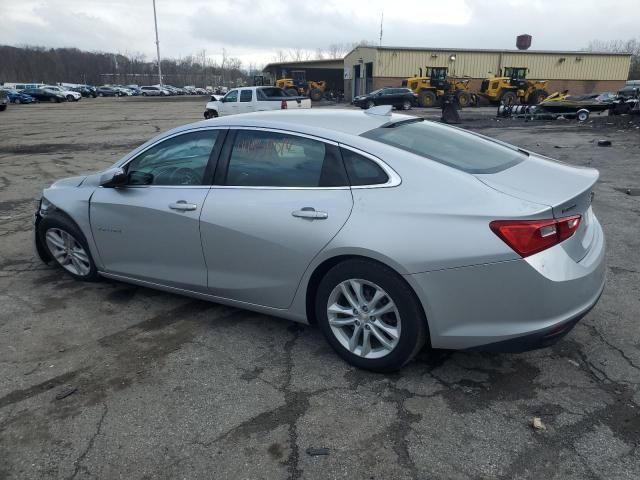
<svg viewBox="0 0 640 480">
<path fill-rule="evenodd" d="M 402 86 L 418 95 L 418 105 L 421 107 L 435 107 L 447 93 L 453 93 L 461 107 L 474 103 L 469 80 L 449 77 L 447 67 L 426 67 L 424 76 L 420 67 L 420 73 L 403 80 Z"/>
</svg>

